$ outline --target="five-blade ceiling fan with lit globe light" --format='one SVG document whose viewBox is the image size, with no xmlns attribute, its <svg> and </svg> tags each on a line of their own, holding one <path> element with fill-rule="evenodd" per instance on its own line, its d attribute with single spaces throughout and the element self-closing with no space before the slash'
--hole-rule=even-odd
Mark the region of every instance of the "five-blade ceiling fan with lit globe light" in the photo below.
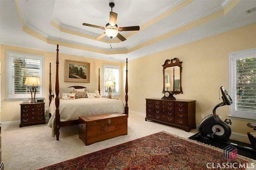
<svg viewBox="0 0 256 170">
<path fill-rule="evenodd" d="M 110 2 L 109 6 L 111 8 L 111 11 L 110 11 L 110 16 L 109 16 L 109 23 L 106 24 L 106 27 L 101 27 L 101 26 L 98 26 L 98 25 L 92 25 L 92 24 L 89 24 L 89 23 L 83 23 L 83 25 L 85 25 L 85 26 L 95 27 L 95 28 L 100 28 L 100 29 L 105 29 L 106 30 L 103 34 L 99 35 L 95 39 L 99 40 L 102 37 L 104 37 L 105 35 L 107 35 L 111 39 L 114 38 L 114 37 L 117 37 L 121 41 L 125 41 L 126 38 L 124 36 L 122 36 L 120 33 L 118 33 L 118 31 L 139 31 L 140 30 L 140 26 L 119 27 L 118 28 L 118 26 L 116 25 L 117 14 L 115 12 L 112 12 L 112 8 L 115 6 L 115 4 L 113 2 Z"/>
</svg>

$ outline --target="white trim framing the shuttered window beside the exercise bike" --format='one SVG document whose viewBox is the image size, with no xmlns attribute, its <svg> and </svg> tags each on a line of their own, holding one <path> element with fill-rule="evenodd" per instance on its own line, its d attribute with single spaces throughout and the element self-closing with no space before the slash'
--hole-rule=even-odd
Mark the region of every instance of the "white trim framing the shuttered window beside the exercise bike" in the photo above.
<svg viewBox="0 0 256 170">
<path fill-rule="evenodd" d="M 242 55 L 242 56 L 241 56 Z M 236 111 L 236 88 L 235 88 L 235 77 L 234 77 L 234 62 L 236 59 L 246 58 L 256 56 L 256 48 L 243 50 L 243 51 L 236 51 L 229 53 L 229 95 L 233 100 L 233 104 L 229 106 L 229 116 L 243 118 L 243 119 L 254 119 L 256 120 L 256 113 L 255 112 L 248 112 L 248 111 Z"/>
</svg>

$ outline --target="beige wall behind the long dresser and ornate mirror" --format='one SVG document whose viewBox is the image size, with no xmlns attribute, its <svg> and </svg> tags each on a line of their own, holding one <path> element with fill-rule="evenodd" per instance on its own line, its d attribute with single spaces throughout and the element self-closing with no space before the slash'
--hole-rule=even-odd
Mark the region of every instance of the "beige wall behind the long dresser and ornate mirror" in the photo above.
<svg viewBox="0 0 256 170">
<path fill-rule="evenodd" d="M 183 94 L 177 99 L 196 100 L 196 124 L 201 114 L 212 113 L 219 100 L 220 86 L 229 90 L 228 56 L 230 52 L 256 47 L 256 24 L 247 25 L 194 41 L 146 57 L 129 61 L 129 109 L 146 113 L 145 98 L 161 98 L 163 87 L 162 64 L 166 59 L 177 57 L 182 61 Z M 222 119 L 228 117 L 228 106 L 217 113 Z M 252 131 L 247 121 L 232 119 L 232 133 L 246 134 Z"/>
</svg>

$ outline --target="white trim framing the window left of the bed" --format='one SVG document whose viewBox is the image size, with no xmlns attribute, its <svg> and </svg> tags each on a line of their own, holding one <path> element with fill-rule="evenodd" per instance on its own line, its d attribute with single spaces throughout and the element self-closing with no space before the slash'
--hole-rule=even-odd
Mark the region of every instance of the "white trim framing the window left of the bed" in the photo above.
<svg viewBox="0 0 256 170">
<path fill-rule="evenodd" d="M 11 68 L 10 68 L 10 60 L 9 57 L 14 58 L 24 58 L 26 56 L 27 59 L 38 59 L 40 60 L 40 93 L 36 94 L 36 99 L 44 98 L 44 56 L 42 55 L 32 55 L 26 53 L 17 53 L 13 51 L 6 51 L 6 100 L 22 100 L 24 98 L 31 99 L 31 94 L 10 94 L 10 85 L 8 78 L 11 76 Z"/>
</svg>

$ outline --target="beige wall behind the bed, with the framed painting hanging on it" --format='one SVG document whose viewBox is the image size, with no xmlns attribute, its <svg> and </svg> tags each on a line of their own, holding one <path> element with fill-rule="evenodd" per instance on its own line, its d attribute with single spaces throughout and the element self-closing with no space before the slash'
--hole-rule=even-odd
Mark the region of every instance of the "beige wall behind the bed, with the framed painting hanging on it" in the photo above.
<svg viewBox="0 0 256 170">
<path fill-rule="evenodd" d="M 60 87 L 69 87 L 69 86 L 85 86 L 87 88 L 96 88 L 98 89 L 98 68 L 100 68 L 100 86 L 102 90 L 102 64 L 113 64 L 118 65 L 122 68 L 122 63 L 102 61 L 98 59 L 91 59 L 85 57 L 78 57 L 73 55 L 64 55 L 61 54 L 61 46 L 59 47 L 59 82 Z M 6 51 L 14 51 L 19 53 L 28 53 L 35 55 L 44 56 L 44 101 L 46 102 L 45 108 L 49 106 L 49 63 L 51 63 L 51 73 L 52 73 L 52 89 L 55 88 L 55 73 L 56 73 L 56 53 L 38 51 L 32 49 L 25 49 L 19 47 L 13 47 L 8 45 L 1 45 L 1 63 L 2 63 L 2 112 L 1 112 L 1 121 L 20 121 L 20 103 L 19 101 L 6 101 Z M 72 83 L 64 82 L 64 61 L 65 59 L 70 59 L 74 61 L 83 61 L 90 63 L 90 83 Z M 122 87 L 123 88 L 123 87 Z M 121 98 L 120 98 L 121 99 Z"/>
</svg>

